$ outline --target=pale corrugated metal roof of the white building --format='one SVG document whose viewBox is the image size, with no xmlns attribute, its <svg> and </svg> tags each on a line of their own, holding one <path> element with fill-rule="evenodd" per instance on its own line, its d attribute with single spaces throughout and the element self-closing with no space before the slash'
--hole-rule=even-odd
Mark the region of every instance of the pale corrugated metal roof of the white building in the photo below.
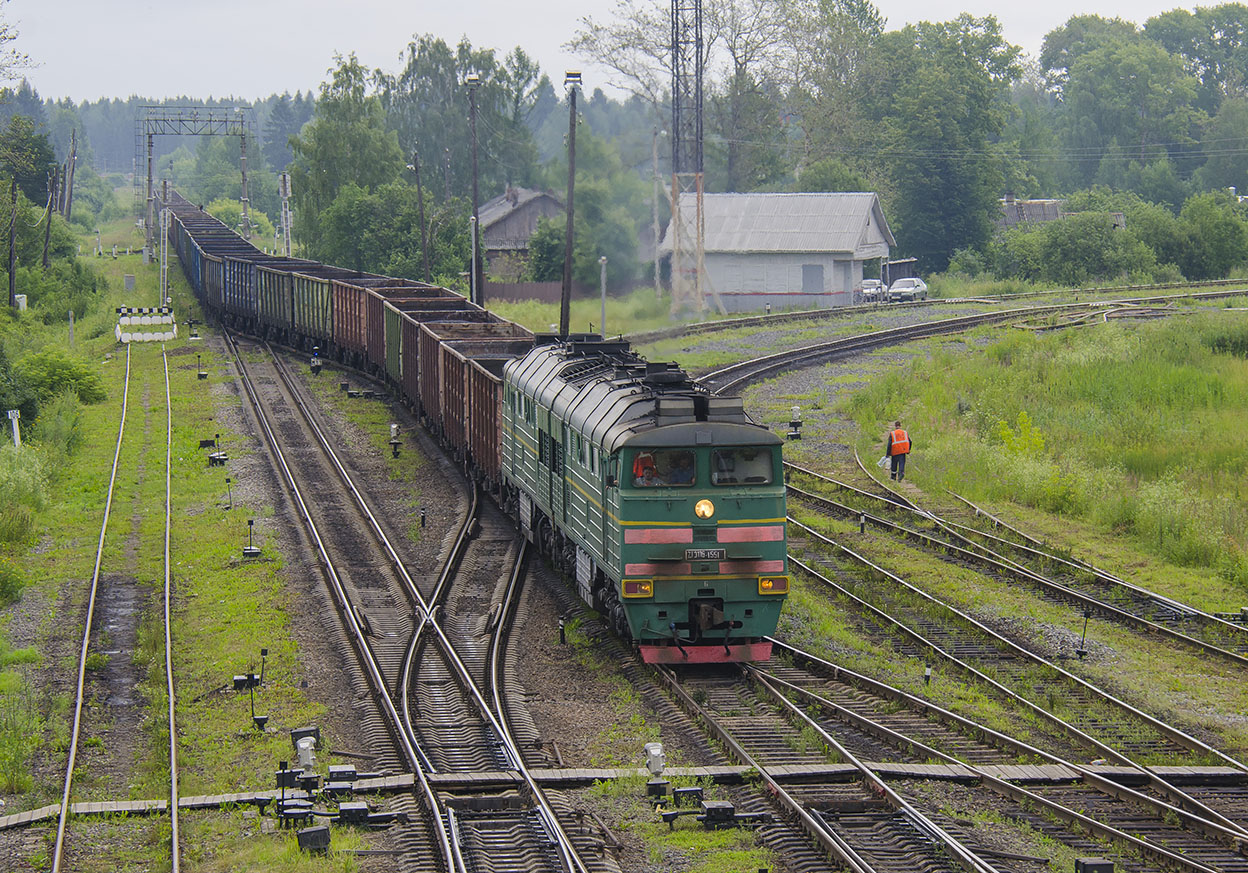
<svg viewBox="0 0 1248 873">
<path fill-rule="evenodd" d="M 680 196 L 693 232 L 695 195 Z M 872 192 L 703 195 L 708 252 L 837 252 L 897 242 Z M 670 224 L 669 224 L 670 231 Z M 671 251 L 664 233 L 660 252 Z"/>
</svg>

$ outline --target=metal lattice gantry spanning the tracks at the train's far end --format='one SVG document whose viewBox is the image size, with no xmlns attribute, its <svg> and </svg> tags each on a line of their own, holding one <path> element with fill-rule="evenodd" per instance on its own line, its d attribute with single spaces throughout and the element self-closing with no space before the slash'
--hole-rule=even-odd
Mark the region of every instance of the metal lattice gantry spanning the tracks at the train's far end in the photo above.
<svg viewBox="0 0 1248 873">
<path fill-rule="evenodd" d="M 142 115 L 135 118 L 135 178 L 139 178 L 139 163 L 147 161 L 147 185 L 145 188 L 144 248 L 151 257 L 156 233 L 156 190 L 152 186 L 154 156 L 152 143 L 157 136 L 237 136 L 240 167 L 242 170 L 242 236 L 251 238 L 251 217 L 247 198 L 247 137 L 252 131 L 251 110 L 241 106 L 142 106 Z M 137 187 L 137 186 L 136 186 Z"/>
</svg>

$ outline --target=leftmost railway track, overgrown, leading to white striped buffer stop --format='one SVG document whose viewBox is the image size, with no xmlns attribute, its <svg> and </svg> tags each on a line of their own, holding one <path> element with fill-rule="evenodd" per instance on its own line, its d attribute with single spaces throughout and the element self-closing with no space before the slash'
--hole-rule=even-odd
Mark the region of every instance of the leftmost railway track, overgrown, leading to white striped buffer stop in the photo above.
<svg viewBox="0 0 1248 873">
<path fill-rule="evenodd" d="M 140 354 L 145 354 L 141 352 Z M 171 595 L 172 595 L 172 582 L 171 582 L 171 565 L 170 565 L 170 530 L 171 530 L 171 464 L 172 464 L 172 438 L 173 438 L 173 415 L 172 415 L 172 400 L 170 393 L 170 377 L 168 377 L 168 357 L 165 350 L 161 349 L 160 363 L 162 367 L 162 383 L 165 393 L 165 529 L 163 540 L 161 544 L 163 551 L 163 575 L 162 575 L 162 590 L 161 590 L 161 605 L 162 605 L 162 626 L 163 626 L 163 639 L 165 639 L 165 687 L 167 692 L 167 712 L 165 718 L 168 726 L 168 793 L 163 801 L 155 804 L 152 811 L 165 811 L 170 817 L 170 843 L 168 843 L 168 863 L 170 869 L 177 873 L 181 869 L 181 833 L 178 822 L 178 789 L 177 789 L 177 725 L 176 725 L 176 697 L 175 697 L 175 682 L 173 682 L 173 661 L 172 661 L 172 632 L 170 624 L 170 607 L 171 607 Z M 124 377 L 122 397 L 121 397 L 121 417 L 117 424 L 117 443 L 114 450 L 112 466 L 109 473 L 109 486 L 105 495 L 104 504 L 104 518 L 100 523 L 100 539 L 96 545 L 95 552 L 95 565 L 91 571 L 91 582 L 87 589 L 86 604 L 85 604 L 85 617 L 82 621 L 82 642 L 79 649 L 77 657 L 77 677 L 72 692 L 72 727 L 70 730 L 69 737 L 69 750 L 67 750 L 67 762 L 65 767 L 65 782 L 61 791 L 60 809 L 56 816 L 56 836 L 52 843 L 52 857 L 51 857 L 51 869 L 52 873 L 59 873 L 62 869 L 74 869 L 75 862 L 72 861 L 75 852 L 86 852 L 85 847 L 75 847 L 71 833 L 71 819 L 72 819 L 72 798 L 75 793 L 74 777 L 79 769 L 79 757 L 82 752 L 82 735 L 84 727 L 86 726 L 90 716 L 84 713 L 84 707 L 86 706 L 87 697 L 91 696 L 92 688 L 89 687 L 87 671 L 89 671 L 89 658 L 110 658 L 119 657 L 130 660 L 134 649 L 132 636 L 137 632 L 137 619 L 142 612 L 142 600 L 146 592 L 142 590 L 142 582 L 127 572 L 122 566 L 112 569 L 110 572 L 105 574 L 105 545 L 109 540 L 109 523 L 112 516 L 114 504 L 119 500 L 117 494 L 117 479 L 119 469 L 122 466 L 122 448 L 126 443 L 126 422 L 127 410 L 130 405 L 131 394 L 131 364 L 132 353 L 131 347 L 126 347 L 126 372 Z M 147 405 L 147 398 L 142 398 L 144 405 Z M 147 422 L 150 424 L 150 420 Z M 146 428 L 145 428 L 146 430 Z M 140 458 L 139 465 L 142 470 L 144 459 Z M 142 474 L 137 476 L 139 480 L 142 479 Z M 135 488 L 139 485 L 136 484 Z M 137 535 L 137 534 L 135 534 Z M 120 646 L 120 649 L 114 651 L 104 651 L 100 640 L 94 636 L 94 631 L 101 631 L 101 634 L 109 640 L 109 645 Z M 105 680 L 104 688 L 95 688 L 96 693 L 109 695 L 111 716 L 114 720 L 114 730 L 137 730 L 137 725 L 142 718 L 141 710 L 144 708 L 134 697 L 134 687 L 131 687 L 131 681 L 126 678 L 129 673 L 126 671 L 121 672 L 121 677 L 114 682 Z M 119 687 L 114 687 L 119 686 Z M 99 720 L 99 716 L 94 717 Z M 124 723 L 122 723 L 124 722 Z M 96 730 L 107 730 L 106 726 L 100 723 L 95 725 Z M 132 766 L 122 762 L 122 766 Z M 104 768 L 99 768 L 104 769 Z M 107 786 L 107 789 L 119 796 L 125 796 L 127 793 L 126 784 L 112 784 Z"/>
</svg>

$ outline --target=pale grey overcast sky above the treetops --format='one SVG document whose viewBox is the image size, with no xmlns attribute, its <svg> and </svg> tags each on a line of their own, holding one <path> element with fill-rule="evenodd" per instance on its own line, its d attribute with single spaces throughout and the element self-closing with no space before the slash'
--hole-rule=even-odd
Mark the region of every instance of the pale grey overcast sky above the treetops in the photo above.
<svg viewBox="0 0 1248 873">
<path fill-rule="evenodd" d="M 993 14 L 1006 39 L 1032 55 L 1040 52 L 1045 34 L 1071 15 L 1097 12 L 1143 24 L 1181 5 L 877 1 L 890 30 L 909 21 L 947 20 L 961 11 Z M 39 65 L 27 79 L 42 97 L 256 99 L 316 90 L 334 52 L 353 51 L 369 67 L 397 71 L 412 35 L 426 32 L 449 44 L 467 35 L 474 46 L 500 54 L 520 46 L 557 82 L 564 70 L 584 69 L 585 87 L 593 90 L 607 84 L 607 74 L 568 55 L 562 45 L 582 16 L 608 20 L 614 5 L 614 0 L 9 0 L 4 16 L 17 29 L 16 47 Z"/>
</svg>

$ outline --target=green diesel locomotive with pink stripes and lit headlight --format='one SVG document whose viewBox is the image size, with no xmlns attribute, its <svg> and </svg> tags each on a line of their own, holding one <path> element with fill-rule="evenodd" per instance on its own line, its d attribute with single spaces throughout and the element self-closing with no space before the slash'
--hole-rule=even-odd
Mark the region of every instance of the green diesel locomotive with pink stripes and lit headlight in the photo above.
<svg viewBox="0 0 1248 873">
<path fill-rule="evenodd" d="M 646 661 L 770 657 L 789 592 L 781 440 L 740 398 L 577 335 L 508 362 L 500 429 L 520 529 Z"/>
</svg>

